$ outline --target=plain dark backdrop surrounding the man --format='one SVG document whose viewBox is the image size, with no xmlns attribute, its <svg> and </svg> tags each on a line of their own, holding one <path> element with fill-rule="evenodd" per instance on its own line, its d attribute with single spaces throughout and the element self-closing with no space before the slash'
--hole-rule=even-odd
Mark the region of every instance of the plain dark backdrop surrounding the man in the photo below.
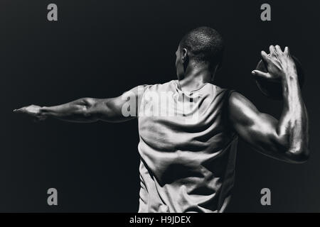
<svg viewBox="0 0 320 227">
<path fill-rule="evenodd" d="M 260 6 L 272 21 L 260 21 Z M 47 6 L 58 5 L 58 22 Z M 304 66 L 311 159 L 289 165 L 240 142 L 228 211 L 320 211 L 319 1 L 44 1 L 0 2 L 0 211 L 137 211 L 137 121 L 33 123 L 12 110 L 83 96 L 112 97 L 138 84 L 176 79 L 182 35 L 211 26 L 225 38 L 215 82 L 237 89 L 260 111 L 279 116 L 282 103 L 259 92 L 250 76 L 260 50 L 289 45 Z M 58 189 L 58 206 L 46 191 Z M 260 189 L 272 206 L 260 205 Z"/>
</svg>

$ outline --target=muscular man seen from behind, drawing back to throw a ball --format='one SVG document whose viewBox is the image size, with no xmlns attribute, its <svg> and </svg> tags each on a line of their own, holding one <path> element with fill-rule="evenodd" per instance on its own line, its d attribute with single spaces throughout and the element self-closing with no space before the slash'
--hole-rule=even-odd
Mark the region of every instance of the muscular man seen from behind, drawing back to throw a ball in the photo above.
<svg viewBox="0 0 320 227">
<path fill-rule="evenodd" d="M 217 31 L 196 28 L 182 38 L 176 50 L 178 80 L 135 87 L 112 99 L 83 98 L 15 111 L 39 120 L 119 122 L 138 118 L 139 212 L 222 212 L 233 187 L 238 137 L 277 160 L 300 163 L 309 157 L 308 118 L 289 48 L 282 51 L 279 45 L 270 46 L 269 55 L 261 52 L 268 72 L 252 71 L 255 77 L 282 81 L 279 121 L 260 113 L 238 92 L 210 83 L 220 67 L 223 49 Z M 166 114 L 146 114 L 159 107 L 154 94 L 167 94 L 171 100 L 160 102 Z"/>
</svg>

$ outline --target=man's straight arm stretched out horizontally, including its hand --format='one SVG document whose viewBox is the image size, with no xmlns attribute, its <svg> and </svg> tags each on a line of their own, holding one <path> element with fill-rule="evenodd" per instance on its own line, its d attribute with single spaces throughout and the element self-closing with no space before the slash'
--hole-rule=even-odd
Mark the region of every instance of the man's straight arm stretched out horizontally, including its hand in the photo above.
<svg viewBox="0 0 320 227">
<path fill-rule="evenodd" d="M 28 114 L 38 120 L 48 117 L 71 122 L 121 122 L 137 116 L 139 95 L 143 86 L 110 99 L 82 98 L 58 106 L 25 106 L 14 110 L 15 113 Z"/>
</svg>

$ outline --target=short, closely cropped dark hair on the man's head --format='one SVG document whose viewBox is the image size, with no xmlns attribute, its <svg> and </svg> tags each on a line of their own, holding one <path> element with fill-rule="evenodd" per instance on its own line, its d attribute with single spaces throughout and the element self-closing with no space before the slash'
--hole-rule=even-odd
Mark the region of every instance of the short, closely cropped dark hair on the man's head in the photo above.
<svg viewBox="0 0 320 227">
<path fill-rule="evenodd" d="M 183 36 L 179 45 L 181 51 L 186 48 L 196 62 L 208 62 L 210 66 L 222 62 L 223 38 L 213 28 L 195 28 Z"/>
</svg>

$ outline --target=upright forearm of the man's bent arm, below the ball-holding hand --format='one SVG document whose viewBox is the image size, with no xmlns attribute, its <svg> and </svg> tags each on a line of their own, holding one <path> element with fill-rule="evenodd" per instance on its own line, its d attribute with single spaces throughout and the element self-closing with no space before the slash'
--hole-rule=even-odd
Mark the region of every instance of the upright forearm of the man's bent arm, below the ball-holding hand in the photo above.
<svg viewBox="0 0 320 227">
<path fill-rule="evenodd" d="M 286 77 L 282 79 L 282 89 L 284 109 L 277 131 L 279 135 L 285 136 L 289 155 L 304 160 L 309 155 L 309 122 L 297 72 L 287 72 Z"/>
</svg>

